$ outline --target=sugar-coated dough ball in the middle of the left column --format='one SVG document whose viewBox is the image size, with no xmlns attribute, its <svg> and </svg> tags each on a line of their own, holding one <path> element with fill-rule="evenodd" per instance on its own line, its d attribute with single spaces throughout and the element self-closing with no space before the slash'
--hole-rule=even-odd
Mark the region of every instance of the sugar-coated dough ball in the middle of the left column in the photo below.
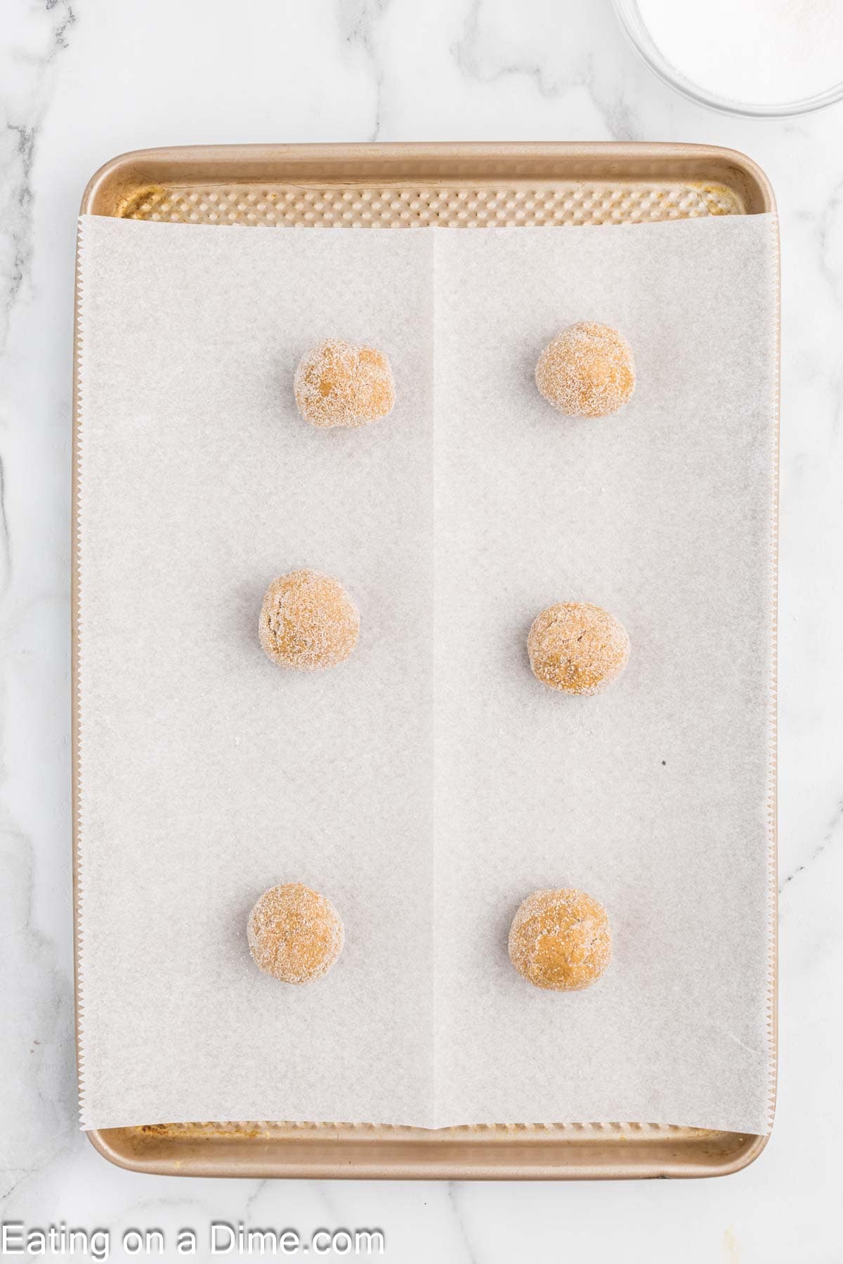
<svg viewBox="0 0 843 1264">
<path fill-rule="evenodd" d="M 264 594 L 258 633 L 273 662 L 298 671 L 335 667 L 351 653 L 359 632 L 356 605 L 330 575 L 291 570 Z"/>
</svg>

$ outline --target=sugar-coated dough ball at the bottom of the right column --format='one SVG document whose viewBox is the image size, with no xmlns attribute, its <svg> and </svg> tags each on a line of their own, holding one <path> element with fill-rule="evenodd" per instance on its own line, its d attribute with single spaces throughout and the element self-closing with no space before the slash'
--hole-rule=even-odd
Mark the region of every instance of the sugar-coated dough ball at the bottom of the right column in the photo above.
<svg viewBox="0 0 843 1264">
<path fill-rule="evenodd" d="M 590 987 L 612 959 L 605 909 L 585 891 L 533 891 L 512 919 L 509 959 L 536 987 Z"/>
</svg>

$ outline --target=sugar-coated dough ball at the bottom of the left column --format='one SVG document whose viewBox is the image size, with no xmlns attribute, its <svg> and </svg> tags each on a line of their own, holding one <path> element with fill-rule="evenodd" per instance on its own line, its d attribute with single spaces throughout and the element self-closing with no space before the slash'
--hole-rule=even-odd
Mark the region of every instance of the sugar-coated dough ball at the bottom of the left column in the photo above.
<svg viewBox="0 0 843 1264">
<path fill-rule="evenodd" d="M 246 937 L 258 969 L 284 983 L 312 983 L 327 975 L 345 942 L 331 901 L 301 882 L 264 891 L 249 914 Z"/>
</svg>

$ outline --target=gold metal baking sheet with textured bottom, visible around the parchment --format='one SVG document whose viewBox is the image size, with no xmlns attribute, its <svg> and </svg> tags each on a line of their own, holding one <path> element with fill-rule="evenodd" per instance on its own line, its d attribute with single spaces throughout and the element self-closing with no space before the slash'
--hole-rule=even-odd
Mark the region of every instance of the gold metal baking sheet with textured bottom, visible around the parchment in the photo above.
<svg viewBox="0 0 843 1264">
<path fill-rule="evenodd" d="M 775 210 L 746 155 L 671 144 L 226 145 L 106 163 L 81 212 L 177 224 L 412 228 L 631 224 Z M 76 383 L 75 383 L 76 387 Z M 78 422 L 75 389 L 73 446 Z M 76 479 L 76 460 L 73 461 Z M 76 485 L 73 767 L 76 769 Z M 76 777 L 75 777 L 76 798 Z M 775 804 L 771 805 L 775 814 Z M 76 804 L 73 889 L 76 902 Z M 767 1138 L 647 1122 L 171 1124 L 88 1133 L 135 1172 L 302 1178 L 584 1179 L 724 1176 Z"/>
</svg>

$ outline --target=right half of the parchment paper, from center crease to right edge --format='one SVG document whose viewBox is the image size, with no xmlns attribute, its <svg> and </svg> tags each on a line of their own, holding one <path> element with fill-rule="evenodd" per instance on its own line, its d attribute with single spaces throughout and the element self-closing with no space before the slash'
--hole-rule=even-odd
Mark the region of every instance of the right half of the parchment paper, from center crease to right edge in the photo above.
<svg viewBox="0 0 843 1264">
<path fill-rule="evenodd" d="M 776 239 L 768 216 L 436 240 L 439 1124 L 770 1124 Z M 575 320 L 638 386 L 566 420 L 532 373 Z M 632 653 L 538 684 L 532 618 L 595 602 Z M 576 886 L 614 961 L 513 973 L 523 896 Z"/>
</svg>

